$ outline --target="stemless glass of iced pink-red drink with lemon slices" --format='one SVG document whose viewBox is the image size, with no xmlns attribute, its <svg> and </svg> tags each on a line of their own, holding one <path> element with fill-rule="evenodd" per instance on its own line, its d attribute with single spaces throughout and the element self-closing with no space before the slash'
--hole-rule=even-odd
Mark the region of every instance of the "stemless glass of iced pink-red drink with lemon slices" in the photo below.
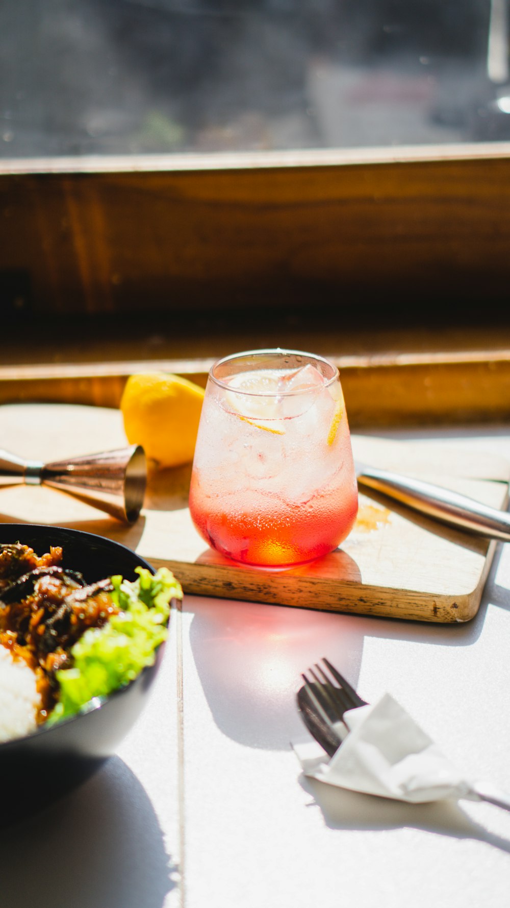
<svg viewBox="0 0 510 908">
<path fill-rule="evenodd" d="M 337 367 L 280 349 L 215 362 L 190 511 L 212 548 L 245 564 L 296 565 L 337 548 L 358 513 Z"/>
</svg>

